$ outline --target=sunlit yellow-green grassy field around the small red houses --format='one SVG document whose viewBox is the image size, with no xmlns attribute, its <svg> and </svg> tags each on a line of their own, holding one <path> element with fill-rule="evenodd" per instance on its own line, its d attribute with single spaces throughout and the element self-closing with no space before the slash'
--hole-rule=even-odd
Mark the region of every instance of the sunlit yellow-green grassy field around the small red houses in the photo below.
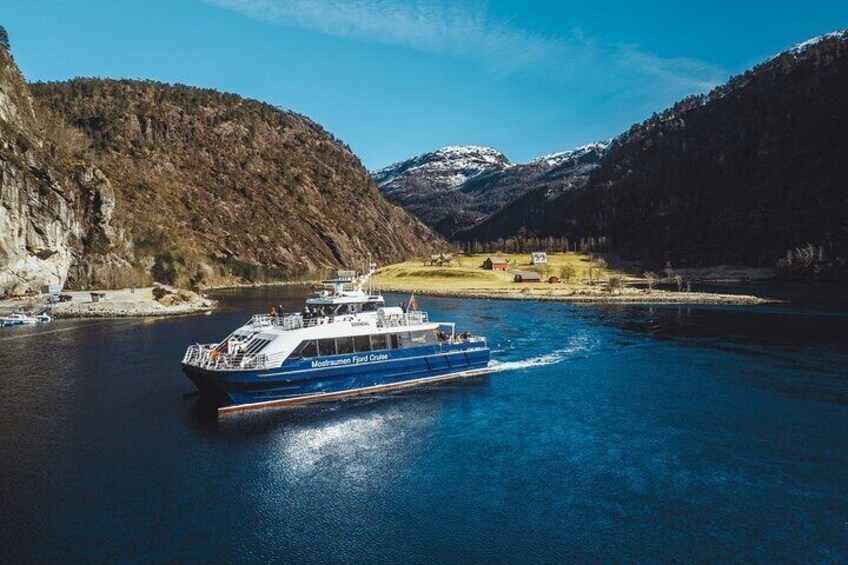
<svg viewBox="0 0 848 565">
<path fill-rule="evenodd" d="M 489 255 L 455 255 L 450 265 L 435 266 L 429 261 L 414 260 L 397 263 L 379 269 L 374 276 L 374 284 L 390 287 L 393 290 L 421 290 L 426 287 L 436 291 L 471 291 L 471 290 L 509 290 L 522 289 L 549 290 L 551 287 L 573 287 L 585 285 L 589 281 L 589 269 L 593 269 L 595 279 L 606 280 L 612 271 L 599 269 L 593 264 L 588 255 L 579 253 L 548 254 L 547 265 L 534 266 L 529 253 L 502 253 L 498 255 L 507 260 L 509 266 L 506 272 L 488 271 L 482 268 L 483 262 Z M 563 270 L 570 267 L 573 270 L 572 279 L 557 285 L 549 284 L 548 278 L 562 278 Z M 515 274 L 520 271 L 535 271 L 542 277 L 539 283 L 516 283 Z"/>
</svg>

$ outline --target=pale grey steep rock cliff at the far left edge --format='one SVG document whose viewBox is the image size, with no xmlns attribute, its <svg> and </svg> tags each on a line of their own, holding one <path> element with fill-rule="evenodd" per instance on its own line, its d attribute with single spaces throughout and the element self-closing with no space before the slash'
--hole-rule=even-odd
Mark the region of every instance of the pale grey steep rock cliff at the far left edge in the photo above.
<svg viewBox="0 0 848 565">
<path fill-rule="evenodd" d="M 23 77 L 0 48 L 0 293 L 63 285 L 84 256 L 108 259 L 93 244 L 111 230 L 109 179 L 44 134 Z"/>
</svg>

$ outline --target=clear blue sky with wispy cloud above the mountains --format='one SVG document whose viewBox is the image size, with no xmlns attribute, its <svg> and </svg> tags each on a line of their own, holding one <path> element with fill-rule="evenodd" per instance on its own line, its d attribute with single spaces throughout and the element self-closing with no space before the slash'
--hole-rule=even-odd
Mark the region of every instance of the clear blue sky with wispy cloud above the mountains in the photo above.
<svg viewBox="0 0 848 565">
<path fill-rule="evenodd" d="M 369 169 L 613 137 L 810 37 L 848 2 L 3 0 L 27 80 L 142 78 L 309 116 Z"/>
</svg>

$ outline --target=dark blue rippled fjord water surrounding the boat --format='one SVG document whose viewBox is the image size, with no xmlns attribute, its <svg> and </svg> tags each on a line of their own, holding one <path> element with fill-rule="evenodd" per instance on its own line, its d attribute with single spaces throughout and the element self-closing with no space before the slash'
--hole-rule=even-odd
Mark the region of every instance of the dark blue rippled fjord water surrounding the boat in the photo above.
<svg viewBox="0 0 848 565">
<path fill-rule="evenodd" d="M 183 397 L 185 347 L 304 289 L 4 330 L 0 559 L 845 562 L 838 290 L 751 308 L 419 297 L 489 337 L 492 374 L 221 421 Z"/>
</svg>

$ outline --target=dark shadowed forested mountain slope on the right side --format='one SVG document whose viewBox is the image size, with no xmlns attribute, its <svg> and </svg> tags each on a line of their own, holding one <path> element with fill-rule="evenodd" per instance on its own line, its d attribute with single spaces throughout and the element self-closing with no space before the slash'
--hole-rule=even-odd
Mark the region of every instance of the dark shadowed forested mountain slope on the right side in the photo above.
<svg viewBox="0 0 848 565">
<path fill-rule="evenodd" d="M 846 257 L 848 33 L 805 42 L 613 140 L 576 191 L 536 189 L 463 234 L 608 236 L 628 256 Z"/>
</svg>

